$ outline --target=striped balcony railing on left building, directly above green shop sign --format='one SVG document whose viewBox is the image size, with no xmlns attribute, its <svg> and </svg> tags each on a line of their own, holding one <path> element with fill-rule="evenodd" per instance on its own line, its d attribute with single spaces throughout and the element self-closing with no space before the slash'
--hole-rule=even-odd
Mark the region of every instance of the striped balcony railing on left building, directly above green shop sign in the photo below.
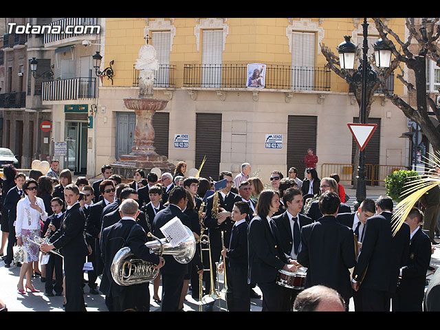
<svg viewBox="0 0 440 330">
<path fill-rule="evenodd" d="M 96 78 L 78 77 L 43 82 L 41 100 L 61 101 L 95 98 Z"/>
</svg>

